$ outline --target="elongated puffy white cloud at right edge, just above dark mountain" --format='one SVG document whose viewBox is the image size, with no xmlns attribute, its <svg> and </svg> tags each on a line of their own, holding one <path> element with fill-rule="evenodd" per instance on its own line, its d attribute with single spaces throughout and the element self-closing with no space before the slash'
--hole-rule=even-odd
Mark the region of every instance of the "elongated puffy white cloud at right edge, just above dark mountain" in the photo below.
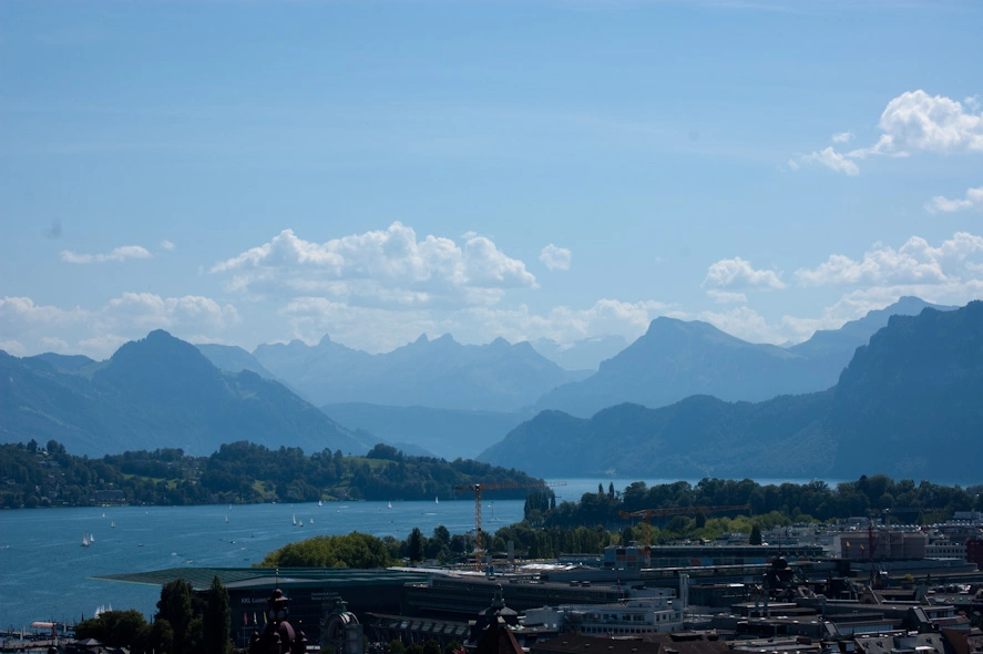
<svg viewBox="0 0 983 654">
<path fill-rule="evenodd" d="M 939 247 L 912 236 L 899 249 L 876 245 L 861 260 L 846 255 L 830 257 L 815 268 L 796 270 L 802 286 L 933 286 L 969 280 L 975 276 L 972 257 L 983 253 L 983 237 L 958 232 Z"/>
</svg>

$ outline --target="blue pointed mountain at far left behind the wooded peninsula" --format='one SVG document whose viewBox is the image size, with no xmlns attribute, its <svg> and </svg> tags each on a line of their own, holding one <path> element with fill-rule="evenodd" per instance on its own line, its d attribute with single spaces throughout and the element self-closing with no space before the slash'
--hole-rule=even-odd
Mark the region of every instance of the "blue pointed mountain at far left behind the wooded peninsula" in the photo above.
<svg viewBox="0 0 983 654">
<path fill-rule="evenodd" d="M 163 330 L 72 372 L 45 358 L 0 352 L 0 439 L 7 442 L 54 439 L 90 456 L 157 448 L 207 454 L 238 440 L 346 453 L 371 447 L 366 435 L 340 427 L 283 385 L 250 371 L 224 374 Z"/>
</svg>

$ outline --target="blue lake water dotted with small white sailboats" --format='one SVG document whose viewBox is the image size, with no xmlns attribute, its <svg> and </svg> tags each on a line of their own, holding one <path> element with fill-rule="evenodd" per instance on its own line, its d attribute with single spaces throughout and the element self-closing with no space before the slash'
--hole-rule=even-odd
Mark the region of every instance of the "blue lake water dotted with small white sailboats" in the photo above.
<svg viewBox="0 0 983 654">
<path fill-rule="evenodd" d="M 596 492 L 598 483 L 606 491 L 610 482 L 621 491 L 632 480 L 567 480 L 553 490 L 559 501 L 576 501 L 585 492 Z M 522 520 L 523 503 L 487 493 L 484 530 L 494 532 Z M 295 517 L 305 523 L 303 528 L 293 524 Z M 110 606 L 136 609 L 153 617 L 158 586 L 100 581 L 94 575 L 188 565 L 244 568 L 277 548 L 317 534 L 359 531 L 405 540 L 414 527 L 429 537 L 441 524 L 452 534 L 473 530 L 473 499 L 392 502 L 391 509 L 387 502 L 328 502 L 0 511 L 0 629 L 20 629 L 35 620 L 74 623 Z M 86 533 L 94 542 L 84 548 Z"/>
</svg>

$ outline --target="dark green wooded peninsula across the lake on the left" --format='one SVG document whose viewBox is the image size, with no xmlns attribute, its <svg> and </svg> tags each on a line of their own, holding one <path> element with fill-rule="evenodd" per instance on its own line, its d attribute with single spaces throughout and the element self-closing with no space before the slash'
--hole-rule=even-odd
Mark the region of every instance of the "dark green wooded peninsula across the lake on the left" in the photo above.
<svg viewBox="0 0 983 654">
<path fill-rule="evenodd" d="M 42 447 L 0 444 L 0 507 L 85 507 L 106 503 L 187 505 L 313 502 L 318 500 L 423 500 L 451 498 L 454 487 L 495 482 L 540 483 L 518 470 L 472 460 L 409 457 L 378 444 L 365 457 L 340 450 L 310 456 L 300 448 L 239 441 L 208 457 L 181 449 L 75 457 L 50 440 Z M 522 489 L 502 498 L 522 498 Z"/>
</svg>

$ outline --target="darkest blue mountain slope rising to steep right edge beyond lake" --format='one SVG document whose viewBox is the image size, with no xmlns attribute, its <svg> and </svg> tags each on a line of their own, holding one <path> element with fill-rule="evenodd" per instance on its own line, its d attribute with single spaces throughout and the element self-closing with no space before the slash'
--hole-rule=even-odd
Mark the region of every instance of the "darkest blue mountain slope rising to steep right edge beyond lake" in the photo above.
<svg viewBox="0 0 983 654">
<path fill-rule="evenodd" d="M 694 396 L 582 419 L 543 411 L 479 460 L 531 474 L 976 480 L 983 302 L 892 316 L 836 387 L 766 401 Z M 561 472 L 562 471 L 562 472 Z"/>
</svg>

